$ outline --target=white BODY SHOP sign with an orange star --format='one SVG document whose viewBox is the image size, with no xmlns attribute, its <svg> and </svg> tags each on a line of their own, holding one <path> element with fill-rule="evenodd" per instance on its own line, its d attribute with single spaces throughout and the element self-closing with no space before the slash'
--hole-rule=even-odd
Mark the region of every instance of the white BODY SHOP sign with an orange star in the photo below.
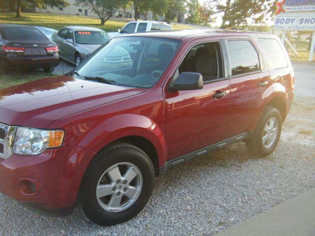
<svg viewBox="0 0 315 236">
<path fill-rule="evenodd" d="M 315 0 L 282 0 L 276 4 L 275 30 L 315 31 Z"/>
</svg>

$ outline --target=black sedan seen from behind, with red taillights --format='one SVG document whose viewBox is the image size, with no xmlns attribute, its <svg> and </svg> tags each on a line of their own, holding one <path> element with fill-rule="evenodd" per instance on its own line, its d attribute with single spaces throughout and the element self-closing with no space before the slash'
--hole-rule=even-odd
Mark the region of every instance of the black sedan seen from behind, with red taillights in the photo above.
<svg viewBox="0 0 315 236">
<path fill-rule="evenodd" d="M 0 24 L 0 66 L 2 70 L 43 68 L 53 72 L 59 64 L 58 47 L 31 26 Z"/>
</svg>

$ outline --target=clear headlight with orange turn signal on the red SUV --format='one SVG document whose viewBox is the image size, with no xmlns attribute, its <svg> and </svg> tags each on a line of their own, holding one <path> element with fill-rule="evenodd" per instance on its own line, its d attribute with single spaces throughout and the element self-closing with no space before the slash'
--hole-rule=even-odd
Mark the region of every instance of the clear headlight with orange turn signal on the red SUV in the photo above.
<svg viewBox="0 0 315 236">
<path fill-rule="evenodd" d="M 57 148 L 63 142 L 63 130 L 40 130 L 17 127 L 12 152 L 19 155 L 37 155 L 47 148 Z"/>
</svg>

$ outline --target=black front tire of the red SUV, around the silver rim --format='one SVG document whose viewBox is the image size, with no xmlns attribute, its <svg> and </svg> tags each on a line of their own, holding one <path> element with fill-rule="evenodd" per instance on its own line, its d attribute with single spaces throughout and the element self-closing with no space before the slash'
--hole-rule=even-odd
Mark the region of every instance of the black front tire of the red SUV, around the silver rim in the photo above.
<svg viewBox="0 0 315 236">
<path fill-rule="evenodd" d="M 141 190 L 137 193 L 139 194 L 134 199 L 128 199 L 126 197 L 127 192 L 125 191 L 124 186 L 124 174 L 121 171 L 121 167 L 125 167 L 124 165 L 119 165 L 119 171 L 121 174 L 121 184 L 117 185 L 116 182 L 112 180 L 110 175 L 108 175 L 109 172 L 114 170 L 116 168 L 117 164 L 121 163 L 128 163 L 132 165 L 133 167 L 130 167 L 131 169 L 136 167 L 136 169 L 139 171 L 140 175 L 137 174 L 135 177 L 133 177 L 133 180 L 130 180 L 130 186 L 133 187 L 133 182 L 135 179 L 138 179 L 140 176 L 142 178 L 141 183 L 142 187 Z M 114 169 L 111 169 L 113 168 Z M 129 167 L 128 167 L 129 168 Z M 108 171 L 109 170 L 109 171 Z M 115 169 L 116 170 L 116 169 Z M 126 169 L 129 170 L 129 169 Z M 113 175 L 112 175 L 113 176 Z M 127 176 L 127 175 L 126 175 Z M 106 178 L 110 183 L 107 183 L 105 185 L 111 186 L 110 188 L 107 188 L 112 191 L 110 194 L 106 195 L 105 197 L 97 197 L 96 196 L 96 188 L 97 186 L 104 186 L 100 182 L 104 181 L 106 182 Z M 103 180 L 104 179 L 104 180 Z M 131 178 L 130 178 L 131 179 Z M 105 148 L 101 150 L 98 154 L 96 154 L 95 158 L 92 160 L 90 165 L 88 166 L 86 173 L 84 174 L 81 186 L 80 186 L 80 193 L 79 193 L 79 204 L 81 209 L 83 210 L 83 213 L 94 223 L 101 225 L 101 226 L 109 226 L 109 225 L 115 225 L 127 220 L 130 220 L 134 216 L 136 216 L 147 204 L 148 200 L 150 199 L 153 187 L 154 187 L 154 180 L 155 180 L 155 173 L 154 173 L 154 167 L 150 160 L 150 158 L 147 156 L 146 153 L 144 153 L 141 149 L 127 144 L 127 143 L 117 143 L 115 145 L 112 145 L 108 148 Z M 132 183 L 133 182 L 133 183 Z M 114 185 L 111 185 L 114 184 Z M 116 186 L 117 185 L 117 186 Z M 111 189 L 112 187 L 115 187 Z M 128 182 L 129 186 L 129 182 Z M 121 189 L 121 190 L 119 190 Z M 129 187 L 126 188 L 126 191 L 129 191 Z M 108 209 L 105 209 L 104 207 L 110 208 L 110 202 L 112 199 L 117 199 L 119 197 L 118 192 L 121 192 L 121 202 L 119 202 L 119 206 L 124 206 L 127 208 L 122 209 L 121 211 L 110 211 Z M 105 199 L 107 198 L 107 199 Z M 127 200 L 126 200 L 127 199 Z M 107 201 L 107 202 L 106 202 Z M 127 205 L 128 201 L 133 201 L 130 203 L 131 205 Z M 121 207 L 120 206 L 120 207 Z M 115 209 L 114 209 L 115 210 Z"/>
</svg>

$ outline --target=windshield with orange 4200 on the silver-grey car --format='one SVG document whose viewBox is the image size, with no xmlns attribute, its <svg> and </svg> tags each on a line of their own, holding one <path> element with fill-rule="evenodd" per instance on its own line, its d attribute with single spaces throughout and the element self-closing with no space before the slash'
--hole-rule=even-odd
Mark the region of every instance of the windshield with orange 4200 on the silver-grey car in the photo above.
<svg viewBox="0 0 315 236">
<path fill-rule="evenodd" d="M 104 44 L 109 40 L 106 32 L 75 31 L 76 42 L 79 44 Z"/>
</svg>

